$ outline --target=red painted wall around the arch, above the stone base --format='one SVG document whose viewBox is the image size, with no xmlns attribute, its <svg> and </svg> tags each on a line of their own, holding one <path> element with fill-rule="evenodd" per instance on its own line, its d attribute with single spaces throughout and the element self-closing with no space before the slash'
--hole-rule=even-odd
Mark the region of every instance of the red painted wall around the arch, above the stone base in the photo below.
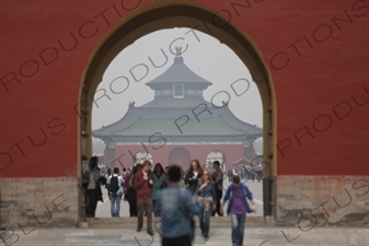
<svg viewBox="0 0 369 246">
<path fill-rule="evenodd" d="M 270 69 L 278 174 L 369 175 L 368 0 L 197 1 L 230 16 Z M 89 56 L 150 2 L 0 1 L 0 177 L 66 176 Z"/>
</svg>

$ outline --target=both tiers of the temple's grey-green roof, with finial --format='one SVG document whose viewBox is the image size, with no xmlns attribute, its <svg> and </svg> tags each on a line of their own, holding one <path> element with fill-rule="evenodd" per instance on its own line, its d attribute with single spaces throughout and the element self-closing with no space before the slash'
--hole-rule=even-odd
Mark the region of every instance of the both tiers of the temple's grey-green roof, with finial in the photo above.
<svg viewBox="0 0 369 246">
<path fill-rule="evenodd" d="M 204 91 L 212 83 L 194 73 L 181 57 L 181 48 L 177 47 L 177 56 L 174 63 L 161 75 L 146 83 L 153 90 L 173 90 L 173 84 L 184 84 L 185 90 Z M 200 106 L 199 106 L 200 105 Z M 194 109 L 197 107 L 197 109 Z M 205 109 L 207 107 L 207 110 Z M 215 106 L 215 107 L 214 107 Z M 262 137 L 263 130 L 254 125 L 238 119 L 228 105 L 219 108 L 205 101 L 203 94 L 185 95 L 184 98 L 173 98 L 172 95 L 155 95 L 154 99 L 139 107 L 129 105 L 126 115 L 118 121 L 93 131 L 93 137 L 111 141 L 113 138 L 122 139 L 150 137 L 155 132 L 169 137 L 191 138 L 224 138 L 239 137 L 242 139 Z M 193 110 L 199 114 L 198 120 Z M 176 119 L 188 116 L 189 120 L 181 127 L 183 133 L 175 125 Z M 177 124 L 184 124 L 177 120 Z"/>
</svg>

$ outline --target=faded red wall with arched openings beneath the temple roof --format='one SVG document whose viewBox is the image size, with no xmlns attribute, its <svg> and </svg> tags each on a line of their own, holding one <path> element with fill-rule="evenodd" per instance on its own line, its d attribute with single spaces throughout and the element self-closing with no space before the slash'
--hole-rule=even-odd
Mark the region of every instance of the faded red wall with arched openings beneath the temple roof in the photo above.
<svg viewBox="0 0 369 246">
<path fill-rule="evenodd" d="M 227 159 L 227 168 L 231 168 L 232 164 L 243 156 L 243 145 L 230 145 L 230 144 L 219 144 L 219 145 L 129 145 L 129 147 L 115 147 L 115 160 L 117 167 L 131 167 L 134 160 L 132 155 L 139 151 L 148 151 L 152 155 L 153 164 L 161 163 L 163 166 L 169 164 L 178 163 L 168 163 L 169 155 L 172 150 L 176 148 L 184 148 L 191 154 L 191 160 L 197 159 L 201 165 L 206 164 L 206 157 L 211 151 L 221 150 Z M 185 169 L 189 167 L 189 162 L 182 164 Z"/>
</svg>

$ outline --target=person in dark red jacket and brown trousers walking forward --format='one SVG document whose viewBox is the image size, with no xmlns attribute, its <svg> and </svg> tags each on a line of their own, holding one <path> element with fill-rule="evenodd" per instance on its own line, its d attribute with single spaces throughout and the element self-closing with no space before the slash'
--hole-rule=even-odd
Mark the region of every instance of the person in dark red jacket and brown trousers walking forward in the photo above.
<svg viewBox="0 0 369 246">
<path fill-rule="evenodd" d="M 147 232 L 151 236 L 152 231 L 152 186 L 153 178 L 150 177 L 149 171 L 151 168 L 151 162 L 145 161 L 142 171 L 137 171 L 134 180 L 134 187 L 137 194 L 137 232 L 142 230 L 143 225 L 143 210 L 147 214 Z"/>
</svg>

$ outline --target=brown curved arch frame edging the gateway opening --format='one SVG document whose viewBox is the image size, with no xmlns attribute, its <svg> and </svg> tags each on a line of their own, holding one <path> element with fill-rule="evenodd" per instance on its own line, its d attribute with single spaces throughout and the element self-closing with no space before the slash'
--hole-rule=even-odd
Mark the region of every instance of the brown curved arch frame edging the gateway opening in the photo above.
<svg viewBox="0 0 369 246">
<path fill-rule="evenodd" d="M 204 22 L 207 25 L 204 25 Z M 272 75 L 263 62 L 256 45 L 243 30 L 232 22 L 222 27 L 217 27 L 212 24 L 227 22 L 217 10 L 211 10 L 187 0 L 158 1 L 132 11 L 106 33 L 91 54 L 89 65 L 81 78 L 79 93 L 79 102 L 85 101 L 87 103 L 80 103 L 78 110 L 81 112 L 81 108 L 84 107 L 83 110 L 92 112 L 93 98 L 91 98 L 91 95 L 96 91 L 106 68 L 124 48 L 134 44 L 136 39 L 163 28 L 188 27 L 208 33 L 208 27 L 211 30 L 209 35 L 229 46 L 244 62 L 261 93 L 263 103 L 264 162 L 267 162 L 269 166 L 265 169 L 266 179 L 264 180 L 269 181 L 268 191 L 265 192 L 264 190 L 264 204 L 267 204 L 272 201 L 272 194 L 275 194 L 275 190 L 272 192 L 270 180 L 277 176 L 277 162 L 273 155 L 277 139 L 277 114 Z M 92 137 L 89 134 L 92 131 L 91 120 L 82 120 L 81 117 L 78 117 L 78 127 L 80 132 L 78 132 L 79 150 L 77 160 L 80 163 L 82 154 L 88 156 L 92 154 Z M 87 149 L 84 151 L 81 150 L 82 131 L 89 134 L 85 139 Z M 268 213 L 264 214 L 267 215 Z"/>
</svg>

